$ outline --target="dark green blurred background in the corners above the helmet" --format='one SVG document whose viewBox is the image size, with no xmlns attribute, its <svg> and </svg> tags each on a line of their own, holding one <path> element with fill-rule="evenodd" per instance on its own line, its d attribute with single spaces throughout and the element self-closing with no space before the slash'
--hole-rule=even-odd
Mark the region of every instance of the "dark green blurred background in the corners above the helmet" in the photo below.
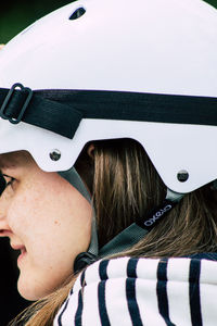
<svg viewBox="0 0 217 326">
<path fill-rule="evenodd" d="M 180 0 L 181 1 L 181 0 Z M 73 2 L 72 0 L 8 0 L 0 4 L 0 43 L 8 42 L 13 36 L 44 14 Z M 217 8 L 217 0 L 206 0 Z"/>
</svg>

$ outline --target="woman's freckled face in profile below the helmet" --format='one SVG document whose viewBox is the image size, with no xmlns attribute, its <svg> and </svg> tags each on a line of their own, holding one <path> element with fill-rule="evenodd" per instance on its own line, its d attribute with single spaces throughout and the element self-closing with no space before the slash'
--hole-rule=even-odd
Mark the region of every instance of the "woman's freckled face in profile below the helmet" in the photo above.
<svg viewBox="0 0 217 326">
<path fill-rule="evenodd" d="M 0 170 L 11 181 L 0 197 L 0 236 L 20 250 L 18 291 L 37 300 L 73 272 L 87 251 L 91 205 L 56 173 L 41 171 L 27 152 L 0 155 Z"/>
</svg>

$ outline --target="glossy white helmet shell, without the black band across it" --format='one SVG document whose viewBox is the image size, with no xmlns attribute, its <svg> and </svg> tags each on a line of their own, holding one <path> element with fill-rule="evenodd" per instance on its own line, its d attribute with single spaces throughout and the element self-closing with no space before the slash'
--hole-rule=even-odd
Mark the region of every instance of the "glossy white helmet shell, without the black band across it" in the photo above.
<svg viewBox="0 0 217 326">
<path fill-rule="evenodd" d="M 84 8 L 77 20 L 69 17 Z M 0 87 L 217 97 L 217 11 L 201 0 L 80 0 L 37 21 L 0 52 Z M 90 140 L 133 138 L 174 191 L 217 178 L 217 127 L 82 120 L 74 138 L 0 120 L 0 153 L 27 150 L 44 171 L 68 170 Z M 61 152 L 52 161 L 50 153 Z M 177 174 L 187 171 L 180 183 Z"/>
</svg>

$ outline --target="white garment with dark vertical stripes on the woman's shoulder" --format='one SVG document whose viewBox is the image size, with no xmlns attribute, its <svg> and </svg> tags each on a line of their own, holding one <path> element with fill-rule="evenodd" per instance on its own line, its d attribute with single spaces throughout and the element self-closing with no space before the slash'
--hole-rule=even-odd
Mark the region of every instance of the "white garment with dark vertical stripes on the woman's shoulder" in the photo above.
<svg viewBox="0 0 217 326">
<path fill-rule="evenodd" d="M 77 278 L 54 326 L 216 326 L 217 261 L 99 261 Z"/>
</svg>

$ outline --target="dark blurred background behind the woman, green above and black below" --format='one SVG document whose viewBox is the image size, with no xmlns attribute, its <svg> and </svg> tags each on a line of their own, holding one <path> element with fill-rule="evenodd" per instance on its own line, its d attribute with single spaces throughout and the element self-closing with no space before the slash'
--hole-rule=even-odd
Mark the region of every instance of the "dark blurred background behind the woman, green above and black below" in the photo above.
<svg viewBox="0 0 217 326">
<path fill-rule="evenodd" d="M 133 1 L 133 0 L 132 0 Z M 136 1 L 136 0 L 135 0 Z M 181 1 L 181 0 L 180 0 Z M 8 42 L 13 36 L 47 13 L 71 3 L 66 0 L 7 0 L 0 4 L 0 43 Z M 217 0 L 207 0 L 217 8 Z M 29 304 L 16 290 L 18 271 L 17 254 L 10 249 L 8 239 L 0 239 L 0 326 Z"/>
</svg>

